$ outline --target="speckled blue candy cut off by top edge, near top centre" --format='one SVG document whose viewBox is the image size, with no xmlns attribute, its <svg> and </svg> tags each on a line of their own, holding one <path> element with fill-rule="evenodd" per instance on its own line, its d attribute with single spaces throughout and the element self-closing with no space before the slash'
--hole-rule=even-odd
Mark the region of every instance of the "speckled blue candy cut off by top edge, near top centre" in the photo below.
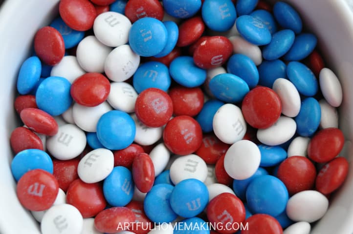
<svg viewBox="0 0 353 234">
<path fill-rule="evenodd" d="M 164 10 L 179 19 L 190 18 L 201 8 L 201 0 L 163 0 Z"/>
</svg>

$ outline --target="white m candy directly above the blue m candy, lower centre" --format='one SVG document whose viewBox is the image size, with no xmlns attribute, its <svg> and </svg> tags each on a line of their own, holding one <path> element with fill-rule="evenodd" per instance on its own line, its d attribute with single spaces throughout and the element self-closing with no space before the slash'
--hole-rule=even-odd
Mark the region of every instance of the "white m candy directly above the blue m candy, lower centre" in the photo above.
<svg viewBox="0 0 353 234">
<path fill-rule="evenodd" d="M 170 178 L 174 184 L 184 179 L 204 181 L 207 177 L 207 165 L 197 155 L 187 155 L 176 158 L 170 167 Z"/>
</svg>

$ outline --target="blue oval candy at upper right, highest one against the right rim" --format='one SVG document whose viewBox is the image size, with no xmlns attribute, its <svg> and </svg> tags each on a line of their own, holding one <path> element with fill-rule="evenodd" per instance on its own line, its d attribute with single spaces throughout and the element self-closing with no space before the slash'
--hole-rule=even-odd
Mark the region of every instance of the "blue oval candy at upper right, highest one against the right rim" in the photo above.
<svg viewBox="0 0 353 234">
<path fill-rule="evenodd" d="M 273 15 L 277 22 L 283 27 L 299 34 L 302 31 L 302 19 L 296 10 L 288 3 L 278 1 L 273 6 Z"/>
</svg>

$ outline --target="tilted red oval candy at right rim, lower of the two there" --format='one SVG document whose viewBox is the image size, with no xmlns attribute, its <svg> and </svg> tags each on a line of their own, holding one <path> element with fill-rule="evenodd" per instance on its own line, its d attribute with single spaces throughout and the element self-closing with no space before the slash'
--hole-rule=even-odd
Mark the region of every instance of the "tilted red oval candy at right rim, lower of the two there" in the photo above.
<svg viewBox="0 0 353 234">
<path fill-rule="evenodd" d="M 316 177 L 316 190 L 328 195 L 339 188 L 348 175 L 349 164 L 346 158 L 337 157 L 327 163 Z"/>
</svg>

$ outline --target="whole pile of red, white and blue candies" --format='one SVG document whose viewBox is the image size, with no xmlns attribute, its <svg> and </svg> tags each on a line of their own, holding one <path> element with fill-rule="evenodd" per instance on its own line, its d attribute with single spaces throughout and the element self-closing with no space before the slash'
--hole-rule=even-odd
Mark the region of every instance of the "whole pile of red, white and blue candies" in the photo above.
<svg viewBox="0 0 353 234">
<path fill-rule="evenodd" d="M 290 5 L 59 12 L 20 69 L 10 139 L 43 234 L 308 234 L 326 213 L 348 173 L 342 88 Z"/>
</svg>

